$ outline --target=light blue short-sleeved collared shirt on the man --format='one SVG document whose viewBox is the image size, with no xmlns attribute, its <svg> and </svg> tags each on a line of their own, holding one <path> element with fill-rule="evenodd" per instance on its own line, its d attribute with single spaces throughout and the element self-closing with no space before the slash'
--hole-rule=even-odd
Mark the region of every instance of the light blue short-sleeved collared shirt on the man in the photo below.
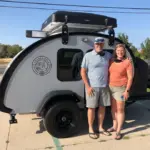
<svg viewBox="0 0 150 150">
<path fill-rule="evenodd" d="M 87 77 L 91 87 L 106 87 L 108 85 L 108 67 L 111 57 L 109 52 L 100 56 L 95 50 L 85 54 L 81 67 L 87 69 Z"/>
</svg>

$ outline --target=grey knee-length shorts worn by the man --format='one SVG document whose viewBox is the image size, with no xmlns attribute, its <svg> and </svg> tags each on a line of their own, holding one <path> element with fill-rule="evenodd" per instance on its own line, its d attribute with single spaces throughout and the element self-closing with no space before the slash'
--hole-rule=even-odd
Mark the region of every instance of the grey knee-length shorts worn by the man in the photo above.
<svg viewBox="0 0 150 150">
<path fill-rule="evenodd" d="M 89 96 L 86 92 L 86 107 L 96 108 L 99 106 L 110 106 L 111 97 L 109 87 L 93 88 L 94 95 Z"/>
</svg>

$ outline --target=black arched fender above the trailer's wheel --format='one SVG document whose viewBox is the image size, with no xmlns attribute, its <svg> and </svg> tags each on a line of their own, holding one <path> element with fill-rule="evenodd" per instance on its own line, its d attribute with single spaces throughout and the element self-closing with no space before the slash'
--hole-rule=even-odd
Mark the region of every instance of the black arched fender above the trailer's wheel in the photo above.
<svg viewBox="0 0 150 150">
<path fill-rule="evenodd" d="M 75 101 L 76 103 L 81 101 L 81 98 L 74 92 L 69 90 L 51 91 L 43 98 L 37 108 L 37 115 L 43 116 L 43 113 L 49 109 L 51 105 L 62 100 Z"/>
</svg>

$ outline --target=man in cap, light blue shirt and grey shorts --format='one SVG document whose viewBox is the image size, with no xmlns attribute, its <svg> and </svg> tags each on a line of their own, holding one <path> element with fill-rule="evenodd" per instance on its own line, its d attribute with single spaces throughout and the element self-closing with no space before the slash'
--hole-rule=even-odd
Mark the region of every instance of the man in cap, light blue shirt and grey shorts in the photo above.
<svg viewBox="0 0 150 150">
<path fill-rule="evenodd" d="M 110 135 L 103 128 L 105 107 L 110 106 L 108 67 L 111 54 L 103 51 L 104 39 L 95 38 L 93 51 L 86 53 L 81 64 L 81 77 L 85 84 L 86 107 L 88 108 L 89 136 L 97 139 L 93 129 L 95 108 L 98 109 L 98 133 Z"/>
</svg>

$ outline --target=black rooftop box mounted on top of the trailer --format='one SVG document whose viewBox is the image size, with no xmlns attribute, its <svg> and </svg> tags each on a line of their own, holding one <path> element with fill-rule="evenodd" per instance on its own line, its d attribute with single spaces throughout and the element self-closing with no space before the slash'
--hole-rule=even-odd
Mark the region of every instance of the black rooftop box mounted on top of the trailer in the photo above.
<svg viewBox="0 0 150 150">
<path fill-rule="evenodd" d="M 49 34 L 60 33 L 65 22 L 69 32 L 102 32 L 108 27 L 117 27 L 117 20 L 112 17 L 83 12 L 56 11 L 42 24 L 41 30 Z"/>
</svg>

